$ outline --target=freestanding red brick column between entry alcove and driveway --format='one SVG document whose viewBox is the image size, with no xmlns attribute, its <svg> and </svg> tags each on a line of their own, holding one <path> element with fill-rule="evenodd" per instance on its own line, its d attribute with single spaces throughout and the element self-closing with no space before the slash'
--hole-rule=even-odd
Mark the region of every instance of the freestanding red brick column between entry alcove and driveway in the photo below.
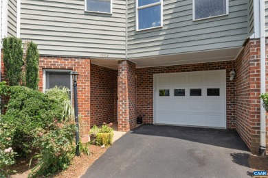
<svg viewBox="0 0 268 178">
<path fill-rule="evenodd" d="M 135 64 L 118 62 L 118 131 L 129 131 L 136 124 Z"/>
</svg>

